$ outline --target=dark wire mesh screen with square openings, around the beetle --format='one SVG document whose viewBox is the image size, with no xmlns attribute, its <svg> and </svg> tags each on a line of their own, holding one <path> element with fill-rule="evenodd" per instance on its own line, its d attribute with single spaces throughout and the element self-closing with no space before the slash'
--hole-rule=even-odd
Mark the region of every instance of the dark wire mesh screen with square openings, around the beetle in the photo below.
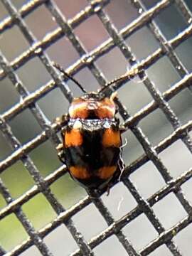
<svg viewBox="0 0 192 256">
<path fill-rule="evenodd" d="M 191 255 L 191 1 L 0 6 L 0 255 Z M 87 91 L 132 70 L 111 87 L 128 144 L 108 197 L 58 161 L 80 91 L 52 61 Z"/>
</svg>

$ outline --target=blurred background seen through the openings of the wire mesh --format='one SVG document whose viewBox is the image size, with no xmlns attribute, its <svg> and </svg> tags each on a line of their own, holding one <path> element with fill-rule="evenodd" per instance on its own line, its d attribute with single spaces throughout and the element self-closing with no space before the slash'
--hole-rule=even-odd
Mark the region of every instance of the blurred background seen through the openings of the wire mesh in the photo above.
<svg viewBox="0 0 192 256">
<path fill-rule="evenodd" d="M 16 6 L 16 9 L 20 9 L 27 1 L 14 0 L 12 2 L 14 6 Z M 188 8 L 192 11 L 191 0 L 186 0 L 185 2 Z M 142 3 L 146 9 L 150 9 L 158 3 L 158 1 L 144 0 Z M 66 19 L 73 18 L 80 10 L 85 9 L 88 5 L 85 0 L 55 0 L 55 4 L 57 4 Z M 118 30 L 121 30 L 124 26 L 131 23 L 139 16 L 137 9 L 134 9 L 129 0 L 110 1 L 110 4 L 105 6 L 105 12 L 110 16 L 111 21 Z M 6 16 L 8 16 L 8 13 L 4 8 L 4 5 L 0 2 L 0 21 L 3 21 Z M 58 28 L 58 24 L 55 22 L 48 9 L 43 5 L 39 6 L 38 9 L 26 16 L 24 21 L 28 28 L 33 32 L 33 35 L 36 36 L 37 41 L 41 41 L 50 31 L 54 31 Z M 171 4 L 164 9 L 164 11 L 161 11 L 160 14 L 154 18 L 154 21 L 159 26 L 166 39 L 170 40 L 191 24 L 192 20 L 186 22 L 178 9 L 176 9 L 176 6 Z M 96 15 L 90 16 L 86 21 L 80 23 L 80 26 L 75 28 L 74 32 L 87 52 L 100 46 L 100 43 L 106 41 L 107 38 L 110 38 L 100 19 L 97 18 Z M 137 60 L 146 58 L 159 48 L 158 41 L 156 41 L 156 38 L 146 26 L 140 28 L 139 31 L 129 36 L 126 39 L 126 42 L 131 48 L 132 53 L 137 57 Z M 15 25 L 1 34 L 0 48 L 6 59 L 11 62 L 18 57 L 18 55 L 23 53 L 23 51 L 27 50 L 29 45 L 18 26 Z M 178 57 L 189 73 L 192 70 L 191 49 L 191 38 L 184 41 L 176 48 Z M 66 37 L 53 43 L 45 50 L 45 52 L 48 54 L 50 60 L 59 63 L 63 68 L 68 68 L 70 65 L 73 65 L 79 58 L 78 53 Z M 127 60 L 118 48 L 113 48 L 109 53 L 98 58 L 95 63 L 100 70 L 102 70 L 105 78 L 109 81 L 122 75 L 126 72 L 127 68 L 129 68 Z M 154 82 L 161 92 L 168 90 L 181 79 L 177 70 L 171 65 L 169 58 L 166 56 L 158 60 L 154 65 L 151 65 L 151 67 L 146 70 L 146 73 L 149 75 L 149 79 Z M 50 80 L 50 75 L 37 57 L 32 58 L 21 68 L 18 68 L 16 74 L 29 92 L 38 90 Z M 88 91 L 97 90 L 100 87 L 88 68 L 80 70 L 80 72 L 75 75 L 75 79 L 77 79 Z M 68 85 L 75 96 L 80 95 L 80 90 L 78 87 L 75 87 L 73 82 L 68 82 Z M 137 113 L 142 107 L 153 100 L 139 78 L 134 78 L 131 82 L 127 82 L 126 85 L 118 90 L 118 95 L 119 99 L 124 106 L 127 107 L 127 111 L 131 115 Z M 191 92 L 188 89 L 185 89 L 169 101 L 169 105 L 181 120 L 182 124 L 186 124 L 186 122 L 192 119 L 191 99 Z M 9 78 L 1 80 L 0 114 L 6 112 L 10 107 L 20 101 L 21 97 L 16 92 L 14 85 Z M 38 105 L 50 122 L 53 122 L 56 117 L 68 112 L 68 101 L 60 92 L 59 88 L 55 88 L 55 90 L 49 92 L 46 97 L 38 100 Z M 41 127 L 28 109 L 18 114 L 14 119 L 11 119 L 9 125 L 21 144 L 25 144 L 41 133 Z M 166 138 L 174 131 L 164 113 L 159 109 L 142 119 L 142 121 L 139 122 L 139 127 L 142 128 L 142 131 L 153 145 L 158 144 L 162 139 Z M 132 132 L 127 131 L 123 136 L 123 139 L 125 138 L 127 138 L 128 144 L 124 147 L 124 161 L 126 165 L 129 165 L 132 161 L 141 156 L 141 154 L 144 153 L 144 150 Z M 6 159 L 11 152 L 11 147 L 0 132 L 0 161 Z M 48 176 L 48 174 L 51 174 L 61 165 L 55 148 L 50 141 L 38 146 L 30 152 L 29 156 L 43 177 Z M 185 144 L 180 140 L 164 150 L 159 156 L 167 169 L 169 169 L 171 176 L 174 178 L 184 171 L 187 171 L 192 165 L 191 154 Z M 21 161 L 17 161 L 16 164 L 6 169 L 0 175 L 0 178 L 5 183 L 6 187 L 9 188 L 13 198 L 18 198 L 34 185 L 33 179 L 30 174 L 28 174 L 28 171 Z M 151 162 L 144 164 L 144 166 L 137 169 L 137 171 L 134 171 L 130 176 L 130 179 L 134 181 L 134 184 L 144 198 L 148 198 L 165 185 L 159 171 L 153 164 L 151 164 Z M 78 186 L 78 184 L 76 184 L 68 175 L 59 178 L 58 181 L 55 181 L 53 185 L 50 186 L 50 188 L 56 198 L 58 198 L 58 201 L 60 201 L 65 208 L 70 208 L 70 206 L 73 206 L 74 203 L 78 202 L 86 195 L 85 190 Z M 182 188 L 186 193 L 186 197 L 192 203 L 191 181 L 186 182 Z M 112 188 L 109 197 L 107 197 L 106 194 L 103 195 L 102 200 L 110 209 L 115 219 L 119 219 L 122 215 L 137 206 L 136 201 L 134 201 L 134 198 L 122 183 L 118 183 L 117 186 Z M 120 201 L 121 205 L 119 206 Z M 4 208 L 5 206 L 6 202 L 0 195 L 0 208 Z M 22 206 L 22 209 L 31 220 L 36 230 L 43 228 L 46 223 L 49 223 L 56 217 L 56 214 L 50 207 L 48 201 L 46 201 L 46 198 L 41 194 L 38 194 L 25 203 Z M 154 212 L 165 228 L 170 228 L 186 215 L 186 212 L 172 193 L 159 203 L 156 203 Z M 90 218 L 92 218 L 92 227 L 87 228 L 85 220 L 90 220 Z M 90 240 L 94 235 L 97 235 L 107 228 L 107 224 L 102 216 L 95 206 L 92 205 L 87 206 L 84 210 L 75 215 L 73 220 L 75 225 L 77 225 L 78 229 L 85 236 L 86 240 Z M 11 250 L 18 245 L 18 243 L 27 238 L 25 230 L 22 228 L 14 214 L 7 216 L 0 221 L 0 230 L 0 245 L 6 250 Z M 123 230 L 137 250 L 142 249 L 142 247 L 158 235 L 144 214 L 132 221 Z M 191 226 L 188 226 L 188 228 L 179 233 L 175 238 L 176 243 L 179 245 L 184 256 L 191 255 L 192 246 L 188 243 L 191 239 Z M 70 252 L 73 252 L 78 248 L 64 225 L 61 225 L 46 236 L 44 241 L 54 255 L 69 255 Z M 190 246 L 191 249 L 189 249 Z M 120 245 L 117 238 L 114 236 L 105 240 L 105 242 L 102 242 L 102 244 L 95 248 L 94 252 L 95 255 L 106 255 L 106 253 L 110 253 L 110 255 L 127 255 L 122 245 Z M 33 246 L 26 252 L 23 252 L 22 255 L 34 256 L 40 255 L 40 252 Z M 169 252 L 165 246 L 161 246 L 151 253 L 151 255 L 169 256 L 171 255 L 171 252 Z"/>
</svg>

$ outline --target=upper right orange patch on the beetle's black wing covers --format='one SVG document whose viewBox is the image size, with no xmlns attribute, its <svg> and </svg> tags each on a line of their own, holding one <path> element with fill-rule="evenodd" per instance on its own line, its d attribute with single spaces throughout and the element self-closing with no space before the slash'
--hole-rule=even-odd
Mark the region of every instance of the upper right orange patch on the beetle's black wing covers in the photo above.
<svg viewBox="0 0 192 256">
<path fill-rule="evenodd" d="M 121 144 L 121 137 L 119 131 L 113 131 L 111 128 L 106 129 L 102 136 L 103 146 L 117 146 Z"/>
</svg>

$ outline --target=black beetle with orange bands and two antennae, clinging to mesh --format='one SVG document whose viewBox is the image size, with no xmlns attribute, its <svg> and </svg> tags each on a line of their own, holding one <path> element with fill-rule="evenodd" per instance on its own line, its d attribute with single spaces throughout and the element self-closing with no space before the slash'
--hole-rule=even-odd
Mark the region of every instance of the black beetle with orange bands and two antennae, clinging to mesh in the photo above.
<svg viewBox="0 0 192 256">
<path fill-rule="evenodd" d="M 113 80 L 98 92 L 86 92 L 60 65 L 53 65 L 84 92 L 81 97 L 73 99 L 68 114 L 63 116 L 67 125 L 61 130 L 63 143 L 57 147 L 58 157 L 81 186 L 89 189 L 110 188 L 110 183 L 119 178 L 124 166 L 123 127 L 119 126 L 119 119 L 115 117 L 117 106 L 114 98 L 117 94 L 113 92 L 105 96 L 103 91 L 122 78 Z"/>
</svg>

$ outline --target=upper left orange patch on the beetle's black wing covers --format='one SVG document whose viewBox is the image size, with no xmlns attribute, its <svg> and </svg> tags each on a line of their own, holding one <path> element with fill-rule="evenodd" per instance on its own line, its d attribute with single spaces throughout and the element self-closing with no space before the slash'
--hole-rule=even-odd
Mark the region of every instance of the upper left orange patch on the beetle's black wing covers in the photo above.
<svg viewBox="0 0 192 256">
<path fill-rule="evenodd" d="M 65 147 L 81 145 L 82 134 L 79 129 L 72 129 L 70 132 L 65 132 Z"/>
</svg>

